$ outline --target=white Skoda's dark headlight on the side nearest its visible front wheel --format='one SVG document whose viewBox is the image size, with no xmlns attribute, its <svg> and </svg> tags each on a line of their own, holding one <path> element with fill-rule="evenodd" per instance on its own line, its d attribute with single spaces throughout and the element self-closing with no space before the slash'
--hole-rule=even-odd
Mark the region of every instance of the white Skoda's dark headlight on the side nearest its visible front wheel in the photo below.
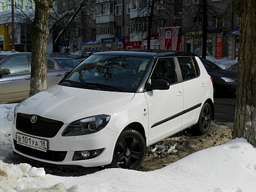
<svg viewBox="0 0 256 192">
<path fill-rule="evenodd" d="M 98 132 L 108 124 L 109 115 L 95 115 L 76 120 L 69 124 L 62 136 L 79 136 Z"/>
</svg>

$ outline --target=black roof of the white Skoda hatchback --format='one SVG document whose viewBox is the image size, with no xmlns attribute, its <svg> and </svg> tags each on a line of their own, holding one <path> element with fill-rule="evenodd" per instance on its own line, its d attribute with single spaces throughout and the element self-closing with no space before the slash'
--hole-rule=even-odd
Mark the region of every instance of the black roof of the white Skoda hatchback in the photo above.
<svg viewBox="0 0 256 192">
<path fill-rule="evenodd" d="M 166 51 L 161 49 L 124 49 L 118 51 L 104 51 L 104 52 L 95 52 L 93 55 L 116 55 L 116 56 L 144 56 L 144 57 L 164 57 L 164 56 L 196 56 L 192 52 L 184 51 Z"/>
</svg>

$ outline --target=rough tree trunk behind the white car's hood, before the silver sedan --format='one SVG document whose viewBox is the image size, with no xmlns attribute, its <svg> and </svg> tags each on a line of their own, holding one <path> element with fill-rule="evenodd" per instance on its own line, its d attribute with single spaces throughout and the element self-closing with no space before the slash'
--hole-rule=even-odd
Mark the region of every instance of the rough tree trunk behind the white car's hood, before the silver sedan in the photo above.
<svg viewBox="0 0 256 192">
<path fill-rule="evenodd" d="M 53 0 L 34 0 L 35 20 L 32 23 L 32 61 L 29 96 L 47 88 L 46 45 L 49 36 L 49 13 Z"/>
</svg>

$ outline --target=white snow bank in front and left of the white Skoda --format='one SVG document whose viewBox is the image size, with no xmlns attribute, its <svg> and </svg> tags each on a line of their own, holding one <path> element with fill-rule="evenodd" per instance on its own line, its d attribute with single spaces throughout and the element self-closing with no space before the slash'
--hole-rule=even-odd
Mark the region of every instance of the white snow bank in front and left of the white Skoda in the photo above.
<svg viewBox="0 0 256 192">
<path fill-rule="evenodd" d="M 4 157 L 12 154 L 10 132 L 15 105 L 0 105 L 0 191 L 254 192 L 256 189 L 256 149 L 243 138 L 201 150 L 152 172 L 109 168 L 80 177 L 59 177 L 26 163 L 3 163 Z"/>
</svg>

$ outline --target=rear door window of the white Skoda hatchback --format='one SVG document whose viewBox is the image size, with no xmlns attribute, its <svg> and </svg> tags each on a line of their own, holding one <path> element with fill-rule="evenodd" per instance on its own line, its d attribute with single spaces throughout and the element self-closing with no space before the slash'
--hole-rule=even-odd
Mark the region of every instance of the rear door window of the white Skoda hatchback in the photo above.
<svg viewBox="0 0 256 192">
<path fill-rule="evenodd" d="M 197 63 L 191 57 L 178 57 L 183 81 L 199 76 Z"/>
</svg>

